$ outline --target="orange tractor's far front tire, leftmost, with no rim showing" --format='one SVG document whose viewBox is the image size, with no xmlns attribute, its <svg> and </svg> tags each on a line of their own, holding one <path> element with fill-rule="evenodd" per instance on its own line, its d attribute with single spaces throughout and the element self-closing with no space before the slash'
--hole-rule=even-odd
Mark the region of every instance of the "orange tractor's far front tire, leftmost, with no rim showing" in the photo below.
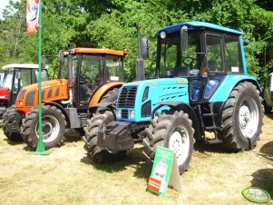
<svg viewBox="0 0 273 205">
<path fill-rule="evenodd" d="M 11 107 L 7 108 L 4 113 L 3 118 L 3 132 L 8 140 L 12 142 L 21 142 L 23 141 L 23 138 L 21 136 L 20 131 L 18 132 L 10 132 L 10 129 L 8 128 L 9 124 L 8 121 L 5 119 L 5 114 L 11 115 L 12 113 L 16 113 L 15 105 L 12 105 Z"/>
</svg>

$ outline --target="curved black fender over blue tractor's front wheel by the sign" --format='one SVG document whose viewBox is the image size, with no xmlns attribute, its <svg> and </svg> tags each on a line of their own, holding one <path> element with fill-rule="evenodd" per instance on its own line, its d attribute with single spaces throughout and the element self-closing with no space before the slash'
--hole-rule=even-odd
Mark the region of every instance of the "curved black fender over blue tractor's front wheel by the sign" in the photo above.
<svg viewBox="0 0 273 205">
<path fill-rule="evenodd" d="M 198 118 L 196 116 L 196 113 L 193 111 L 193 109 L 190 107 L 189 104 L 185 102 L 173 102 L 173 101 L 166 101 L 166 102 L 157 102 L 159 106 L 157 106 L 151 113 L 151 117 L 154 118 L 154 114 L 156 111 L 158 111 L 161 107 L 167 105 L 171 107 L 171 110 L 174 111 L 183 111 L 185 113 L 189 114 L 189 118 L 192 121 L 192 127 L 194 129 L 194 138 L 196 140 L 200 140 L 201 134 L 200 134 L 200 122 L 198 121 Z"/>
</svg>

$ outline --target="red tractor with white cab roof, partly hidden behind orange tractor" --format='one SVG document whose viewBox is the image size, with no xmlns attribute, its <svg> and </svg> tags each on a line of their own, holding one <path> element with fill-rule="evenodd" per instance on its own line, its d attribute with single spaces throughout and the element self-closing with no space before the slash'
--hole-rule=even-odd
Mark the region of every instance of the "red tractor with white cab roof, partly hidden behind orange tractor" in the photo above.
<svg viewBox="0 0 273 205">
<path fill-rule="evenodd" d="M 0 118 L 6 108 L 15 104 L 20 89 L 28 84 L 37 83 L 38 64 L 12 63 L 2 67 L 0 76 Z M 47 70 L 42 69 L 43 80 L 48 80 Z"/>
</svg>

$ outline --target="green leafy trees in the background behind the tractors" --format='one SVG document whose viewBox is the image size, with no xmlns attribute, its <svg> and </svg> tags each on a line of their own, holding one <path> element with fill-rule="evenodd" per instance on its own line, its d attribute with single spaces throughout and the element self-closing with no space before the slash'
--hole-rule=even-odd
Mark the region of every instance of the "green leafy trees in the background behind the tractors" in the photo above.
<svg viewBox="0 0 273 205">
<path fill-rule="evenodd" d="M 125 60 L 127 81 L 135 78 L 137 34 L 151 37 L 151 58 L 145 61 L 154 76 L 156 41 L 163 26 L 185 21 L 207 21 L 244 32 L 249 73 L 263 81 L 273 72 L 272 3 L 262 0 L 54 0 L 44 1 L 43 54 L 56 77 L 58 53 L 69 47 L 129 50 Z M 10 2 L 0 20 L 0 65 L 37 63 L 37 35 L 25 34 L 25 1 Z"/>
</svg>

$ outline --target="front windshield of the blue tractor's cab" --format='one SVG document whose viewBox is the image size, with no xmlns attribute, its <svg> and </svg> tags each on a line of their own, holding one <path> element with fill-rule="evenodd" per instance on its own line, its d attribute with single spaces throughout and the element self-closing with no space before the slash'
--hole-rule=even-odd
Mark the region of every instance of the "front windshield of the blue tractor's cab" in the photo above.
<svg viewBox="0 0 273 205">
<path fill-rule="evenodd" d="M 169 34 L 165 39 L 159 39 L 161 77 L 183 77 L 200 73 L 201 51 L 200 33 L 188 32 L 188 49 L 181 52 L 180 33 Z"/>
</svg>

